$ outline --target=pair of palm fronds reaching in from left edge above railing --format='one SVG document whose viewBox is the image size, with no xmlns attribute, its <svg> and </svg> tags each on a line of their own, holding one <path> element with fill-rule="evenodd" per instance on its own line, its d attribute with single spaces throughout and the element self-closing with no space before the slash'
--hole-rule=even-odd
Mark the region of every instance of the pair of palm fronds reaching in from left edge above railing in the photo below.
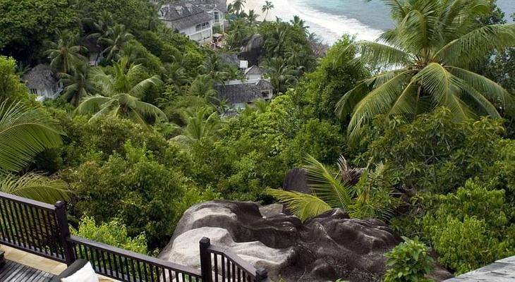
<svg viewBox="0 0 515 282">
<path fill-rule="evenodd" d="M 62 144 L 56 121 L 34 106 L 0 104 L 0 191 L 54 203 L 68 199 L 66 183 L 40 174 L 17 176 L 36 154 Z M 13 175 L 11 173 L 16 173 Z"/>
</svg>

